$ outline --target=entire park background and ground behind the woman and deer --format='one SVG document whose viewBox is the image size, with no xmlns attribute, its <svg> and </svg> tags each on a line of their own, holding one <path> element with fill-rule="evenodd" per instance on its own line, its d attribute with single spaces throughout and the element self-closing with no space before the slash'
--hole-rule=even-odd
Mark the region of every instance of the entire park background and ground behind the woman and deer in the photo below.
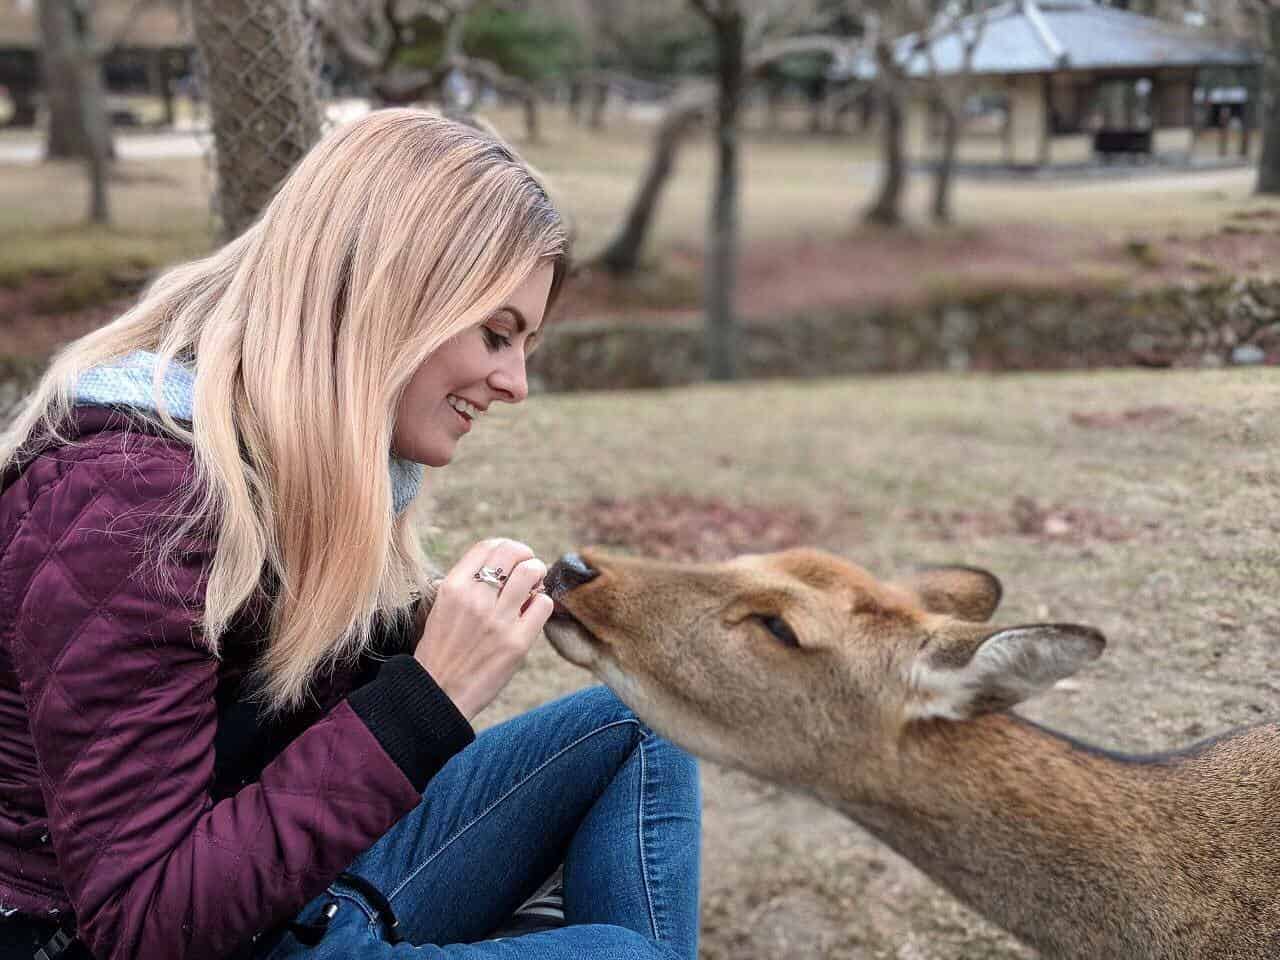
<svg viewBox="0 0 1280 960">
<path fill-rule="evenodd" d="M 442 563 L 975 563 L 1111 637 L 1032 716 L 1185 742 L 1280 692 L 1274 3 L 0 0 L 0 403 L 324 129 L 425 105 L 539 168 L 577 264 L 539 396 L 431 477 Z M 538 650 L 484 721 L 585 682 Z M 809 800 L 704 782 L 704 956 L 1029 956 Z"/>
</svg>

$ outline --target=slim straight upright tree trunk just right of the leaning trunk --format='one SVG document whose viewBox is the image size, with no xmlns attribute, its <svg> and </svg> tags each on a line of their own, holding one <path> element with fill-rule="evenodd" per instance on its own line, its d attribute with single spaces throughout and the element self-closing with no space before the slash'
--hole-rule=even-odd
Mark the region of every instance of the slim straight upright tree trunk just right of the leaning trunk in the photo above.
<svg viewBox="0 0 1280 960">
<path fill-rule="evenodd" d="M 716 24 L 719 64 L 716 101 L 716 189 L 707 233 L 707 372 L 712 380 L 737 374 L 737 179 L 739 113 L 742 104 L 745 23 L 739 10 Z"/>
</svg>

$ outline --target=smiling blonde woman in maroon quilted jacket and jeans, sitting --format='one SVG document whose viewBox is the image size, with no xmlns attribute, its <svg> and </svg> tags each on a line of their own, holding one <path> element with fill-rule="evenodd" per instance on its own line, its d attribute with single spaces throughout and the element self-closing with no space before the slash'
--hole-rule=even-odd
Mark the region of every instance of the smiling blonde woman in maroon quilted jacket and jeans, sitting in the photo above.
<svg viewBox="0 0 1280 960">
<path fill-rule="evenodd" d="M 599 689 L 475 737 L 545 568 L 431 591 L 407 520 L 566 259 L 507 147 L 378 111 L 55 360 L 0 443 L 8 955 L 696 955 L 692 762 Z"/>
</svg>

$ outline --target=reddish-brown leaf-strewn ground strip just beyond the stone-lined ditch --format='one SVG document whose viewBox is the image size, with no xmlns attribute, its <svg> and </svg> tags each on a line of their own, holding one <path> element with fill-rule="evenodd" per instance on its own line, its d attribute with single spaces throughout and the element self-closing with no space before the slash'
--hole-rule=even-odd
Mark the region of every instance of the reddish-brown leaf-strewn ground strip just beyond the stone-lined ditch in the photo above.
<svg viewBox="0 0 1280 960">
<path fill-rule="evenodd" d="M 910 306 L 995 289 L 1152 288 L 1275 273 L 1280 211 L 1240 210 L 1202 233 L 1006 223 L 942 232 L 859 229 L 840 237 L 756 241 L 742 252 L 737 306 L 751 319 L 806 310 Z M 695 314 L 703 261 L 676 248 L 664 275 L 620 287 L 585 271 L 566 288 L 559 320 Z"/>
</svg>

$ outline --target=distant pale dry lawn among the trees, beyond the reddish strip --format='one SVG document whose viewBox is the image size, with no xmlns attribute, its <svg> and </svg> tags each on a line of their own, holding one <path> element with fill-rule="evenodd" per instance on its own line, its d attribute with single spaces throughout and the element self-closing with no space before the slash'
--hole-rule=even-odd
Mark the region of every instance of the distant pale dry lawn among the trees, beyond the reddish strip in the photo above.
<svg viewBox="0 0 1280 960">
<path fill-rule="evenodd" d="M 521 143 L 513 113 L 494 122 L 550 179 L 570 212 L 577 250 L 596 250 L 620 223 L 649 155 L 652 127 L 614 120 L 604 132 L 568 124 L 559 109 L 544 111 L 543 142 Z M 127 133 L 125 137 L 151 137 Z M 29 137 L 27 137 L 29 140 Z M 8 132 L 0 147 L 23 141 Z M 876 186 L 874 143 L 865 138 L 801 133 L 749 133 L 742 154 L 742 230 L 748 247 L 847 236 Z M 703 246 L 713 157 L 705 138 L 690 142 L 668 184 L 653 237 L 653 256 Z M 908 207 L 923 224 L 928 178 L 915 175 Z M 964 228 L 1056 224 L 1121 242 L 1142 233 L 1197 234 L 1233 214 L 1272 207 L 1251 196 L 1249 170 L 1158 178 L 1070 182 L 964 180 L 956 192 Z M 81 300 L 110 287 L 110 276 L 182 260 L 206 250 L 212 220 L 212 174 L 201 157 L 133 159 L 111 184 L 115 224 L 81 225 L 86 187 L 74 164 L 0 165 L 0 284 L 31 274 L 69 274 Z M 923 269 L 928 270 L 928 253 Z M 72 297 L 74 300 L 74 294 Z"/>
</svg>

